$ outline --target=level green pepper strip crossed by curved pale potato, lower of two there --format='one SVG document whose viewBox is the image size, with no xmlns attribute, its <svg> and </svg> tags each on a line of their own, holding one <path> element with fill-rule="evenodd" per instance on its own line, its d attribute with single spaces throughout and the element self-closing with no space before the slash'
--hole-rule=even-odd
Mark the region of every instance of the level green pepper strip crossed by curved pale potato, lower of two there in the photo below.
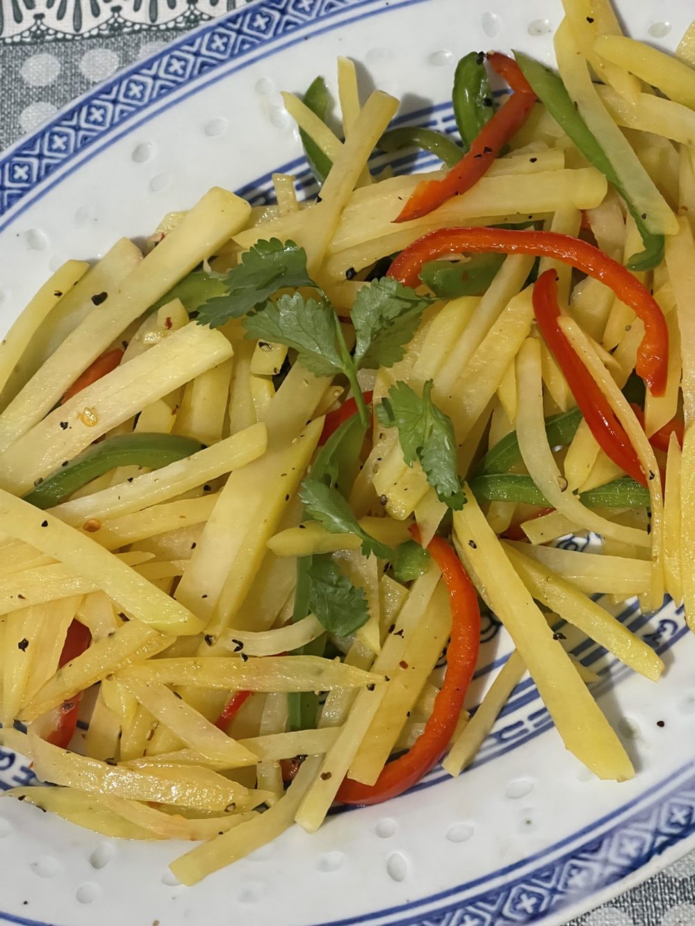
<svg viewBox="0 0 695 926">
<path fill-rule="evenodd" d="M 523 505 L 548 506 L 548 500 L 530 476 L 491 473 L 476 476 L 469 485 L 479 502 L 520 502 Z M 649 490 L 629 476 L 582 492 L 579 499 L 589 508 L 643 508 L 650 505 Z"/>
</svg>

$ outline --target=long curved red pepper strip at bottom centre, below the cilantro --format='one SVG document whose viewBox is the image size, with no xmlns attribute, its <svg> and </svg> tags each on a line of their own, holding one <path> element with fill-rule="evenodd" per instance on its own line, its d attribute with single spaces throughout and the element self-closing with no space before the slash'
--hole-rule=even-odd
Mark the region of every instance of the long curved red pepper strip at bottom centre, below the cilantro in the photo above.
<svg viewBox="0 0 695 926">
<path fill-rule="evenodd" d="M 415 540 L 420 540 L 416 527 L 411 527 L 411 534 Z M 461 715 L 463 698 L 473 678 L 480 645 L 478 598 L 459 557 L 445 540 L 434 537 L 427 544 L 427 550 L 442 570 L 451 607 L 451 636 L 444 684 L 436 694 L 435 705 L 423 733 L 411 749 L 385 765 L 374 784 L 361 784 L 346 778 L 336 796 L 343 804 L 380 804 L 402 795 L 444 755 Z"/>
</svg>

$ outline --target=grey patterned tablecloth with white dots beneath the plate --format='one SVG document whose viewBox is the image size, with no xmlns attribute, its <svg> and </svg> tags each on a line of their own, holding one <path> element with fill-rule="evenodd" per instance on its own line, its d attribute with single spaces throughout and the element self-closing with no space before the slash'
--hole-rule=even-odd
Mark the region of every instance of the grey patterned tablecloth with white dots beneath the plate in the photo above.
<svg viewBox="0 0 695 926">
<path fill-rule="evenodd" d="M 0 149 L 245 0 L 0 0 Z M 568 926 L 695 926 L 695 853 Z"/>
</svg>

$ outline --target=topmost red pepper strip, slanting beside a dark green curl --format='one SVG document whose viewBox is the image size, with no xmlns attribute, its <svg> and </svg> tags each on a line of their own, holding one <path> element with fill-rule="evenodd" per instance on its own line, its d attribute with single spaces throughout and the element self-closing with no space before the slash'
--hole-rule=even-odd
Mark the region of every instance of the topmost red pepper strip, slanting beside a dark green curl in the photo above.
<svg viewBox="0 0 695 926">
<path fill-rule="evenodd" d="M 461 157 L 459 163 L 449 170 L 443 180 L 418 183 L 395 221 L 420 219 L 437 206 L 446 203 L 452 196 L 470 190 L 474 183 L 486 174 L 501 148 L 524 125 L 536 103 L 536 94 L 531 85 L 512 58 L 493 52 L 487 56 L 487 60 L 509 83 L 514 93 L 500 106 L 492 119 L 486 122 L 474 138 L 468 153 Z"/>
</svg>

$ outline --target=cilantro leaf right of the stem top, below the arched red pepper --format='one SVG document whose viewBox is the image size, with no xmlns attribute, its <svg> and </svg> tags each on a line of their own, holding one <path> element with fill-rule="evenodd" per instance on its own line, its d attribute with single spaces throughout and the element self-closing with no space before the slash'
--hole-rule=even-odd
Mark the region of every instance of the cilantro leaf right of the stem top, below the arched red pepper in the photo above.
<svg viewBox="0 0 695 926">
<path fill-rule="evenodd" d="M 355 326 L 358 367 L 392 367 L 405 354 L 423 310 L 434 302 L 398 280 L 382 277 L 362 286 L 350 312 Z"/>
</svg>

